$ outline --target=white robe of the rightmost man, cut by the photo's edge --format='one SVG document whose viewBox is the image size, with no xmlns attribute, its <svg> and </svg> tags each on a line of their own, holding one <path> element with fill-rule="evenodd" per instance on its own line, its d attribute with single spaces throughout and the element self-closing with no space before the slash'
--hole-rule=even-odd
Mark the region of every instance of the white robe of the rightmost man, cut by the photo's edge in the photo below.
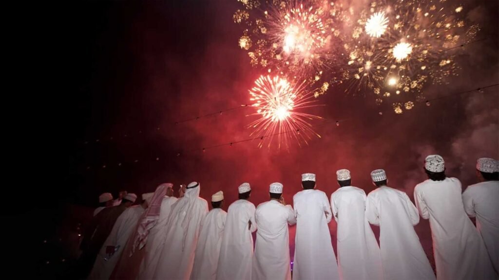
<svg viewBox="0 0 499 280">
<path fill-rule="evenodd" d="M 468 186 L 463 193 L 465 211 L 477 218 L 477 229 L 482 235 L 496 273 L 499 271 L 499 181 L 486 181 Z"/>
</svg>

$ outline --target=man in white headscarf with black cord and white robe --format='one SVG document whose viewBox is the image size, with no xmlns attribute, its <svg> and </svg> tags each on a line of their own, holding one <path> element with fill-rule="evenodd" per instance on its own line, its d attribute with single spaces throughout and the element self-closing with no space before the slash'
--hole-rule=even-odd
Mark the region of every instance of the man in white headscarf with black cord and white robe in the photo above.
<svg viewBox="0 0 499 280">
<path fill-rule="evenodd" d="M 201 221 L 208 213 L 208 202 L 199 197 L 200 188 L 198 182 L 190 183 L 184 196 L 172 205 L 153 279 L 189 280 Z"/>
</svg>

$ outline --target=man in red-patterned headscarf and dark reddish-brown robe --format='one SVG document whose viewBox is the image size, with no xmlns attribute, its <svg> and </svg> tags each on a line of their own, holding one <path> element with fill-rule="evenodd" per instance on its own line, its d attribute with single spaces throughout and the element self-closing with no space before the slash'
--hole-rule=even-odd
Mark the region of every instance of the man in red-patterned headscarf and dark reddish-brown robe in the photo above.
<svg viewBox="0 0 499 280">
<path fill-rule="evenodd" d="M 116 265 L 110 279 L 135 280 L 138 277 L 140 264 L 145 257 L 144 247 L 150 242 L 150 231 L 159 220 L 161 204 L 168 190 L 173 184 L 160 184 L 150 200 L 148 200 L 147 210 L 141 215 L 133 234 L 128 239 L 123 254 Z M 171 193 L 171 192 L 170 192 Z"/>
</svg>

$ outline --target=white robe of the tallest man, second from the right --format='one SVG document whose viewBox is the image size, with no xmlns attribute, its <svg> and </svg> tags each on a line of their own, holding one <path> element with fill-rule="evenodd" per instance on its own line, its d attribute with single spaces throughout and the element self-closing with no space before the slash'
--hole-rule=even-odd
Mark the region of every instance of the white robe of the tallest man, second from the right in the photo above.
<svg viewBox="0 0 499 280">
<path fill-rule="evenodd" d="M 430 179 L 414 189 L 416 206 L 430 219 L 438 279 L 494 279 L 494 269 L 480 233 L 466 215 L 456 178 Z"/>
</svg>

